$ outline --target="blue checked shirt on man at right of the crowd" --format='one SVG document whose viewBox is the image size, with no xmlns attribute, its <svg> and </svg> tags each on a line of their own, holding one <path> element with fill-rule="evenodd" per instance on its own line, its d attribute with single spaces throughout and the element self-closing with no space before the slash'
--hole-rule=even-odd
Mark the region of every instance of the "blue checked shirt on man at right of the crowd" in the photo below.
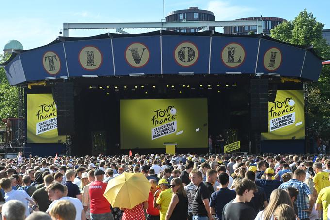
<svg viewBox="0 0 330 220">
<path fill-rule="evenodd" d="M 308 218 L 308 212 L 302 211 L 308 208 L 305 200 L 305 196 L 312 194 L 308 186 L 297 179 L 291 179 L 288 182 L 282 183 L 279 188 L 287 189 L 288 187 L 293 187 L 299 190 L 299 194 L 297 196 L 297 201 L 296 201 L 296 204 L 298 206 L 298 213 L 299 213 L 298 217 L 300 219 Z"/>
</svg>

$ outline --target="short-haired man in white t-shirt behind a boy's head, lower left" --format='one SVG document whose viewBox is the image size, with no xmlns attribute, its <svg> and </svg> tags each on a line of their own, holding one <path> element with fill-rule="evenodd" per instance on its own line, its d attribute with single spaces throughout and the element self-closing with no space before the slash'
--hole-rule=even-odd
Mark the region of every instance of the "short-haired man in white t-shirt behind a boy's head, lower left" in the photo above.
<svg viewBox="0 0 330 220">
<path fill-rule="evenodd" d="M 46 188 L 49 200 L 52 203 L 49 205 L 49 208 L 46 210 L 47 213 L 51 210 L 51 208 L 57 203 L 59 200 L 68 200 L 70 201 L 74 207 L 76 208 L 76 218 L 75 220 L 86 220 L 85 211 L 82 206 L 82 202 L 77 198 L 68 197 L 67 195 L 67 188 L 66 186 L 54 182 L 50 184 Z"/>
</svg>

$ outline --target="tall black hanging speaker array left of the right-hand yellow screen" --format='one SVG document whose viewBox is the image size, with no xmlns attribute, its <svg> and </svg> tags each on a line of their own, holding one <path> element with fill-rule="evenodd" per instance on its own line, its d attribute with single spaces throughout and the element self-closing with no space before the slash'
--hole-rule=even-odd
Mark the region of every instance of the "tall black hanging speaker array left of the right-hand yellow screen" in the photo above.
<svg viewBox="0 0 330 220">
<path fill-rule="evenodd" d="M 268 131 L 268 79 L 251 79 L 251 129 Z"/>
</svg>

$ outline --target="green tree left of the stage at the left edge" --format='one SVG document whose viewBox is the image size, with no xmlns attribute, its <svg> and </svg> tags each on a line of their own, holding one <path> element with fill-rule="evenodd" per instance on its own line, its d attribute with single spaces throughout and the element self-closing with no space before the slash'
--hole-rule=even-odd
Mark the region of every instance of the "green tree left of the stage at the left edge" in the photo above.
<svg viewBox="0 0 330 220">
<path fill-rule="evenodd" d="M 8 59 L 9 55 L 0 54 L 0 63 Z M 9 85 L 4 68 L 0 68 L 0 124 L 9 117 L 18 117 L 18 88 Z"/>
</svg>

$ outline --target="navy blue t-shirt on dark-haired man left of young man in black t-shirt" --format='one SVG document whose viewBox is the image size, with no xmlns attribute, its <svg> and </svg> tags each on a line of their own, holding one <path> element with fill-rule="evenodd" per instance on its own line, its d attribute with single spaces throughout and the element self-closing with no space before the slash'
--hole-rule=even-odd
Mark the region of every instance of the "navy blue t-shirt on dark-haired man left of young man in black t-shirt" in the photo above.
<svg viewBox="0 0 330 220">
<path fill-rule="evenodd" d="M 220 188 L 219 191 L 216 191 L 211 194 L 210 198 L 210 207 L 215 208 L 216 218 L 222 220 L 222 210 L 223 207 L 235 199 L 236 192 L 226 188 Z"/>
</svg>

